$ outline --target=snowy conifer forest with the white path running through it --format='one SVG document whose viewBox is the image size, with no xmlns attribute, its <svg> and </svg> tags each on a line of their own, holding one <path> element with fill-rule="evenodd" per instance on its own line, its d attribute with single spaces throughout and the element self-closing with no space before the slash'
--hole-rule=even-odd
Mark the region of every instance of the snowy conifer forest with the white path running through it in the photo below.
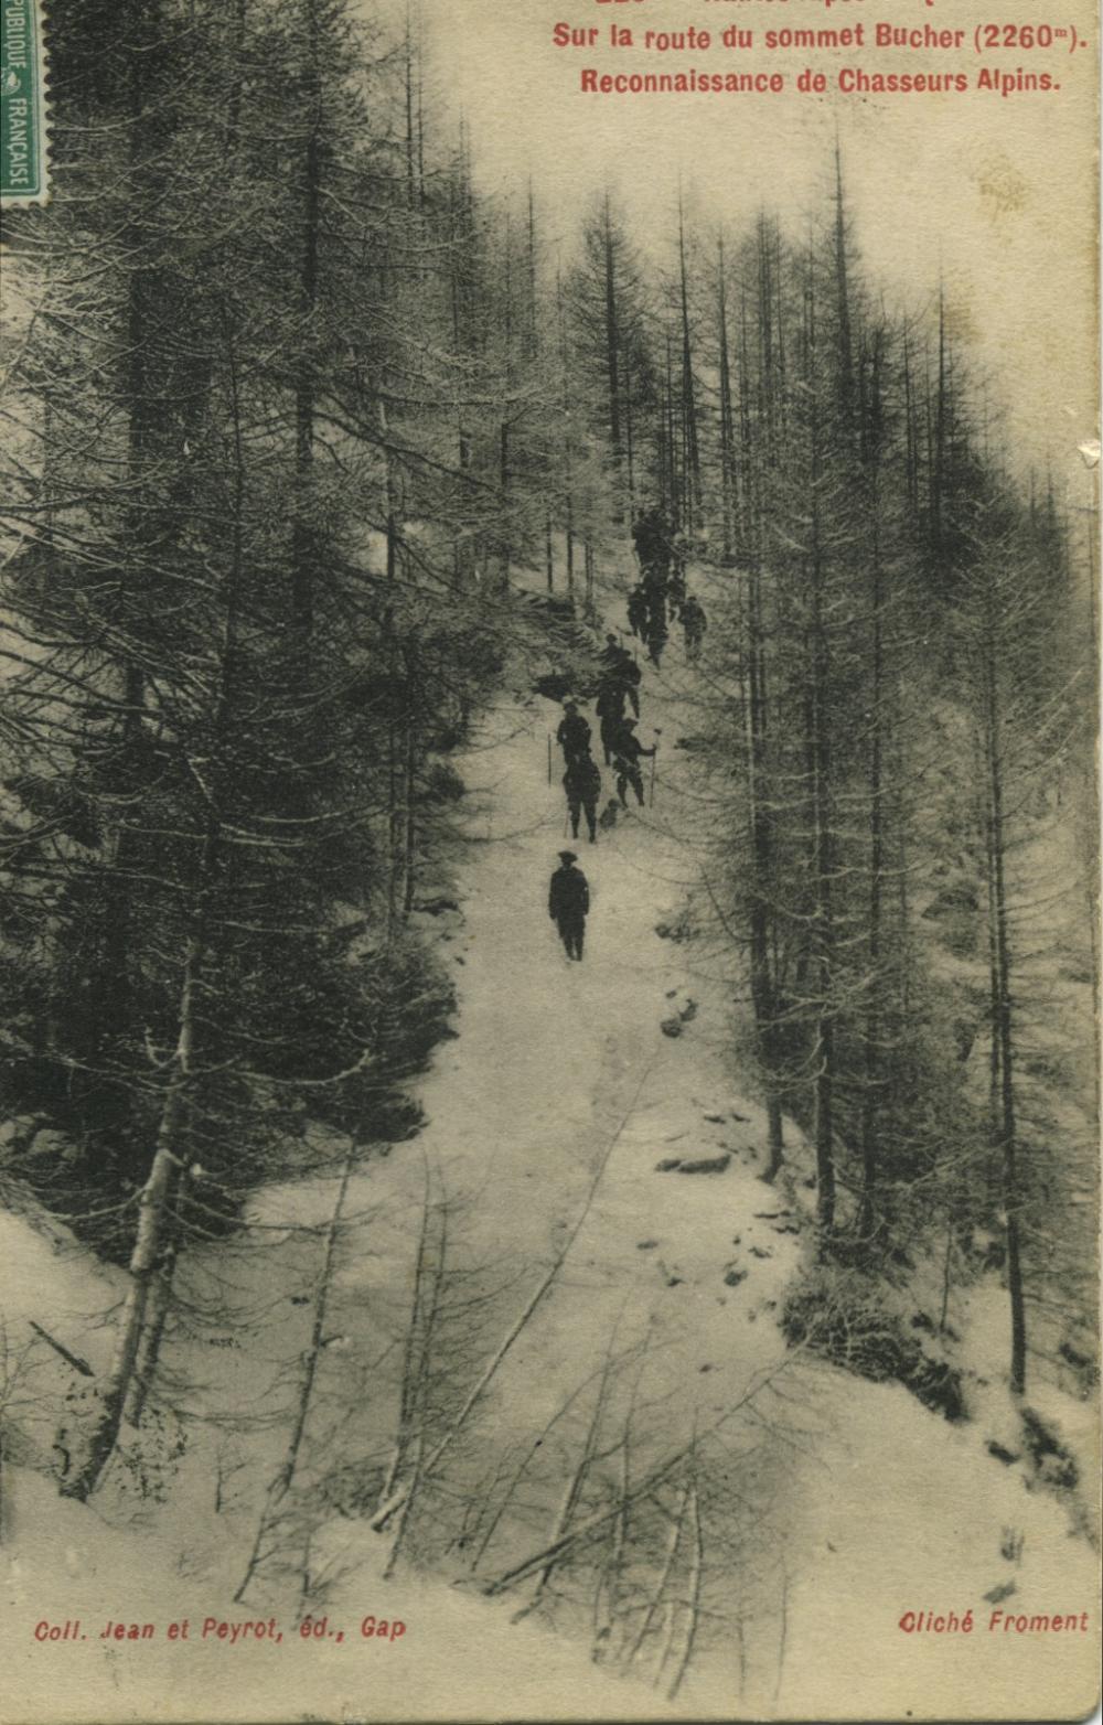
<svg viewBox="0 0 1103 1725">
<path fill-rule="evenodd" d="M 432 40 L 347 0 L 69 0 L 50 43 L 0 409 L 36 1597 L 79 1615 L 47 1525 L 121 1618 L 369 1575 L 499 1661 L 551 1630 L 611 1716 L 718 1670 L 799 1706 L 849 1523 L 863 1609 L 917 1604 L 910 1490 L 977 1611 L 1053 1547 L 1075 1592 L 1094 518 L 937 264 L 870 276 L 844 148 L 810 221 L 687 183 L 659 243 L 615 186 L 485 188 Z M 558 735 L 609 654 L 651 759 L 618 797 L 596 747 L 571 966 Z M 823 1492 L 846 1444 L 880 1499 Z"/>
</svg>

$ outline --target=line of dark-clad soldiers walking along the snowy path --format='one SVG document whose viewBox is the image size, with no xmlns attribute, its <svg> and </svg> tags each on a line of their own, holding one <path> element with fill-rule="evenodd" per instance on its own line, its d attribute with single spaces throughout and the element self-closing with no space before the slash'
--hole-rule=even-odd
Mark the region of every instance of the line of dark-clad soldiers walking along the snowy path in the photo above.
<svg viewBox="0 0 1103 1725">
<path fill-rule="evenodd" d="M 659 666 L 663 647 L 670 637 L 668 618 L 678 619 L 685 631 L 685 657 L 696 659 L 706 630 L 704 609 L 685 586 L 685 547 L 677 542 L 663 511 L 644 511 L 632 528 L 640 580 L 628 595 L 628 628 L 647 645 L 647 657 Z M 658 742 L 644 749 L 635 735 L 640 716 L 640 668 L 633 656 L 620 645 L 616 635 L 606 635 L 601 654 L 601 678 L 594 714 L 599 723 L 604 764 L 616 775 L 616 799 L 609 799 L 599 814 L 601 768 L 590 754 L 592 730 L 577 700 L 563 702 L 563 719 L 556 740 L 563 749 L 563 790 L 571 823 L 571 837 L 578 838 L 585 818 L 590 844 L 597 828 L 616 823 L 620 809 L 628 807 L 628 788 L 644 807 L 644 775 L 640 761 L 654 759 Z M 575 864 L 573 850 L 559 852 L 547 892 L 547 914 L 559 930 L 568 959 L 582 959 L 585 919 L 590 909 L 590 888 L 585 875 Z"/>
</svg>

